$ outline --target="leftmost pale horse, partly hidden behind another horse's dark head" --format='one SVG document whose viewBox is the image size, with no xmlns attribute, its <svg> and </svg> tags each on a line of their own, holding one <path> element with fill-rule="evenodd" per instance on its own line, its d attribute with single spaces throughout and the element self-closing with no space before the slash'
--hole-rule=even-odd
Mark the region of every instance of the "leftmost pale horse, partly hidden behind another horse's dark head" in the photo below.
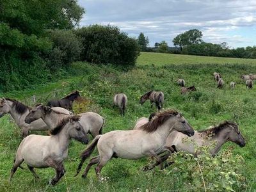
<svg viewBox="0 0 256 192">
<path fill-rule="evenodd" d="M 63 108 L 53 109 L 54 111 L 62 111 L 67 115 L 70 114 L 69 111 Z M 42 119 L 36 120 L 33 124 L 26 124 L 25 117 L 28 115 L 29 111 L 31 111 L 31 108 L 17 100 L 8 98 L 0 100 L 0 118 L 9 113 L 15 121 L 15 124 L 20 127 L 23 138 L 28 136 L 29 131 L 46 131 L 50 128 Z"/>
</svg>

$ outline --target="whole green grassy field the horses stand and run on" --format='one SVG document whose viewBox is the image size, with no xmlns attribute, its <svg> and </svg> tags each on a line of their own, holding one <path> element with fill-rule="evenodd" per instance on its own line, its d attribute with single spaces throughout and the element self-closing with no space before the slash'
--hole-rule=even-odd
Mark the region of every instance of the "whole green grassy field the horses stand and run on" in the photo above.
<svg viewBox="0 0 256 192">
<path fill-rule="evenodd" d="M 255 191 L 256 92 L 255 88 L 246 90 L 244 82 L 239 78 L 241 74 L 256 73 L 256 66 L 252 65 L 255 62 L 256 60 L 142 52 L 138 58 L 138 65 L 131 70 L 123 71 L 111 65 L 97 67 L 88 63 L 74 63 L 73 70 L 77 73 L 74 77 L 63 77 L 62 81 L 40 85 L 35 90 L 9 92 L 0 97 L 12 97 L 32 106 L 33 94 L 36 95 L 38 102 L 45 103 L 47 99 L 53 97 L 54 92 L 56 97 L 62 97 L 77 89 L 81 91 L 83 97 L 90 99 L 90 104 L 84 104 L 84 111 L 96 111 L 104 116 L 106 124 L 103 132 L 108 132 L 132 129 L 138 118 L 156 111 L 150 108 L 149 102 L 141 106 L 139 99 L 148 90 L 161 90 L 165 96 L 164 109 L 178 109 L 195 130 L 219 124 L 223 120 L 236 120 L 239 123 L 246 140 L 246 147 L 240 148 L 234 143 L 227 143 L 223 149 L 232 146 L 234 147 L 233 155 L 241 155 L 244 159 L 243 164 L 237 165 L 236 172 L 246 177 L 245 187 L 234 186 L 234 189 Z M 151 65 L 152 63 L 154 66 Z M 216 65 L 217 63 L 223 65 Z M 216 82 L 212 78 L 213 72 L 222 74 L 225 81 L 223 90 L 216 88 Z M 186 86 L 195 85 L 197 93 L 180 95 L 180 87 L 175 82 L 177 78 L 185 79 Z M 230 81 L 237 83 L 234 90 L 228 87 Z M 111 106 L 113 95 L 118 92 L 124 92 L 129 100 L 124 117 L 118 114 L 118 109 L 113 109 Z M 77 105 L 75 103 L 75 111 L 80 112 L 77 111 Z M 9 122 L 8 115 L 0 119 L 0 127 L 0 191 L 192 190 L 188 185 L 191 178 L 184 179 L 182 173 L 168 175 L 168 172 L 175 168 L 175 164 L 164 171 L 156 168 L 150 172 L 143 172 L 143 166 L 148 163 L 147 158 L 134 161 L 112 159 L 102 170 L 102 175 L 106 177 L 104 182 L 97 180 L 93 168 L 87 179 L 82 179 L 81 174 L 75 178 L 73 175 L 79 164 L 79 154 L 85 147 L 77 141 L 72 141 L 70 144 L 68 158 L 65 161 L 67 173 L 56 186 L 47 185 L 54 176 L 54 170 L 51 168 L 36 169 L 40 176 L 39 181 L 33 178 L 28 168 L 18 169 L 10 184 L 8 177 L 15 152 L 21 141 L 20 130 Z M 45 133 L 40 132 L 40 134 Z M 225 191 L 224 188 L 223 191 Z"/>
</svg>

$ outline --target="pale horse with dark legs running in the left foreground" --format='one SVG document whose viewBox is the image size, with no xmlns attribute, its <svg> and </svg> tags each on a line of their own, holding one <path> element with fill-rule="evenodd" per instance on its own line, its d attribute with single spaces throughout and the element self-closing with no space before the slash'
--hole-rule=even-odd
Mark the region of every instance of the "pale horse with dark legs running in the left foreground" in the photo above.
<svg viewBox="0 0 256 192">
<path fill-rule="evenodd" d="M 39 177 L 34 168 L 54 168 L 56 175 L 50 184 L 55 185 L 65 174 L 63 161 L 68 156 L 70 140 L 74 138 L 84 144 L 87 144 L 89 141 L 86 132 L 84 132 L 81 124 L 79 124 L 79 118 L 79 116 L 64 118 L 51 131 L 51 136 L 31 134 L 24 138 L 17 150 L 9 181 L 12 180 L 13 174 L 20 164 L 25 161 L 36 179 L 39 179 Z"/>
</svg>

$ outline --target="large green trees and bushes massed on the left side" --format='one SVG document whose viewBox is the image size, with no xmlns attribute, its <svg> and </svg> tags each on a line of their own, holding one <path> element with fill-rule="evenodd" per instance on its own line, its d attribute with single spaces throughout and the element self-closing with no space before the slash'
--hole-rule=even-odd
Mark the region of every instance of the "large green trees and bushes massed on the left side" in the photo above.
<svg viewBox="0 0 256 192">
<path fill-rule="evenodd" d="M 67 74 L 74 61 L 135 65 L 140 47 L 117 27 L 77 28 L 77 0 L 0 1 L 0 92 Z"/>
</svg>

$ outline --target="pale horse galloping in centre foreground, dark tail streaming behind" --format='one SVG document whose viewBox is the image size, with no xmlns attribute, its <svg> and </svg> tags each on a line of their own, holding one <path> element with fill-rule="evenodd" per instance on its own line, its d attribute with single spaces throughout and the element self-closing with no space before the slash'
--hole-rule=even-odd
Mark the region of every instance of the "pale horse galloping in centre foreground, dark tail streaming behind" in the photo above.
<svg viewBox="0 0 256 192">
<path fill-rule="evenodd" d="M 177 111 L 168 110 L 157 115 L 147 124 L 138 130 L 111 131 L 106 134 L 96 136 L 92 143 L 81 154 L 81 163 L 77 168 L 78 175 L 86 158 L 90 157 L 97 145 L 99 156 L 90 160 L 82 177 L 86 177 L 91 166 L 97 163 L 95 168 L 96 175 L 100 177 L 102 167 L 108 163 L 112 157 L 122 159 L 140 159 L 141 157 L 151 156 L 161 163 L 157 154 L 164 150 L 166 138 L 172 131 L 180 131 L 188 136 L 193 136 L 193 128 L 186 119 Z M 75 176 L 76 176 L 75 175 Z"/>
</svg>

